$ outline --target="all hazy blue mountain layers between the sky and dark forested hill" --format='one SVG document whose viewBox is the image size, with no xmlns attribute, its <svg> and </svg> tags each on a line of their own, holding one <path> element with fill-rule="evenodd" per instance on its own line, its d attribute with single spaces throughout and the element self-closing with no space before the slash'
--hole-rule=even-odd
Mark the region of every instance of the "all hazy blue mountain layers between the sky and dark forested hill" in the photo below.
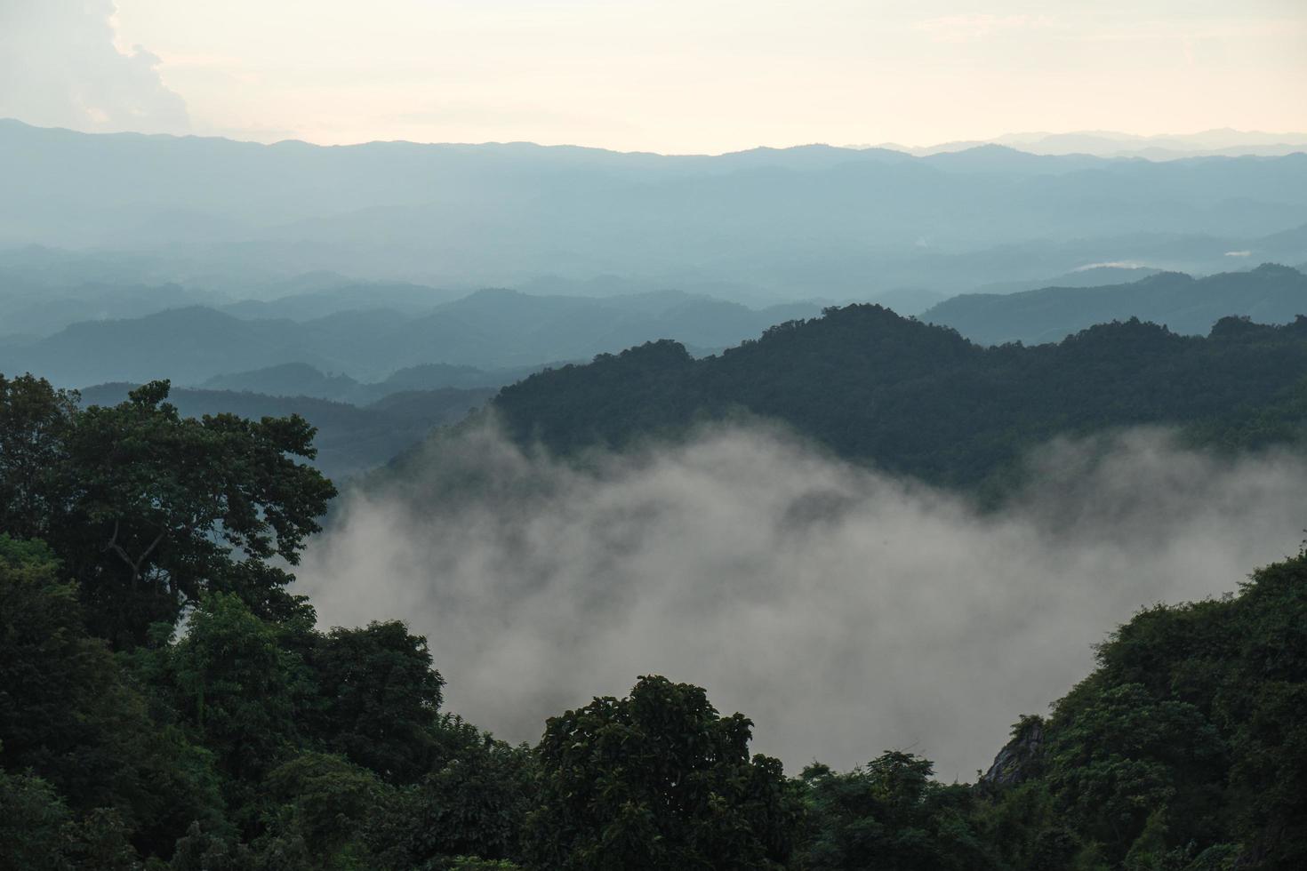
<svg viewBox="0 0 1307 871">
<path fill-rule="evenodd" d="M 719 354 L 833 304 L 980 345 L 1307 312 L 1307 279 L 1270 265 L 1307 261 L 1302 153 L 668 157 L 0 121 L 0 371 L 105 385 L 88 401 L 169 377 L 195 414 L 298 409 L 337 474 L 542 367 L 656 340 Z"/>
</svg>

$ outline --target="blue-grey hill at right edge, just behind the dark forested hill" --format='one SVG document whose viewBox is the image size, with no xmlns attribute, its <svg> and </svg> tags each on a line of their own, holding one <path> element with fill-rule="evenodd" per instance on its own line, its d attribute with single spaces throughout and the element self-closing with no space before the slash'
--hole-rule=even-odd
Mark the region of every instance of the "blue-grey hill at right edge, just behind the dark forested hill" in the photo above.
<svg viewBox="0 0 1307 871">
<path fill-rule="evenodd" d="M 1289 266 L 1263 264 L 1251 272 L 1205 278 L 1161 273 L 1128 283 L 1097 287 L 1042 287 L 1010 294 L 963 294 L 921 315 L 951 326 L 974 342 L 1061 341 L 1094 324 L 1140 317 L 1174 333 L 1206 336 L 1226 315 L 1259 324 L 1287 324 L 1307 313 L 1307 276 Z"/>
</svg>

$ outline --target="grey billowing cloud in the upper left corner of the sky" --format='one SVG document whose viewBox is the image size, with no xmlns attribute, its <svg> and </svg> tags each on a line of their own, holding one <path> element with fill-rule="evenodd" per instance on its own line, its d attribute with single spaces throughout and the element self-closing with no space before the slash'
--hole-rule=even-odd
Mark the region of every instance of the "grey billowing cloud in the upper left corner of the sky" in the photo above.
<svg viewBox="0 0 1307 871">
<path fill-rule="evenodd" d="M 159 59 L 114 43 L 111 0 L 0 0 L 0 118 L 78 131 L 183 133 Z"/>
</svg>

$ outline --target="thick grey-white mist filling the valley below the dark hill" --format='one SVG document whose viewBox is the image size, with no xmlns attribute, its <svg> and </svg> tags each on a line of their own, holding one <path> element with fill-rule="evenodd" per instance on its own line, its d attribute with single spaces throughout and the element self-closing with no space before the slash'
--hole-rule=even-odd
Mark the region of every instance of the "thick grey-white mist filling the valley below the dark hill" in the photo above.
<svg viewBox="0 0 1307 871">
<path fill-rule="evenodd" d="M 486 426 L 342 496 L 297 592 L 328 626 L 404 619 L 446 708 L 511 742 L 663 674 L 752 717 L 792 773 L 897 748 L 968 781 L 1108 631 L 1235 590 L 1307 520 L 1287 454 L 1136 430 L 1029 464 L 982 512 L 765 427 L 566 464 Z"/>
</svg>

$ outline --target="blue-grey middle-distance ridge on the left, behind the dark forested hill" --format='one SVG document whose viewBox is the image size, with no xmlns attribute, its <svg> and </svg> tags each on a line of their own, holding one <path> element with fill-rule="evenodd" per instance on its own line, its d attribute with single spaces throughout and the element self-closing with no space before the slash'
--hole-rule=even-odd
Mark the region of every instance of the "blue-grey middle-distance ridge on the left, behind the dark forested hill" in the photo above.
<svg viewBox="0 0 1307 871">
<path fill-rule="evenodd" d="M 0 341 L 0 371 L 31 371 L 71 387 L 156 377 L 199 385 L 220 375 L 298 363 L 378 381 L 437 363 L 529 370 L 667 337 L 712 350 L 818 309 L 752 309 L 676 291 L 574 298 L 511 290 L 478 291 L 414 316 L 348 309 L 295 321 L 191 306 L 77 323 L 35 341 Z"/>
</svg>

